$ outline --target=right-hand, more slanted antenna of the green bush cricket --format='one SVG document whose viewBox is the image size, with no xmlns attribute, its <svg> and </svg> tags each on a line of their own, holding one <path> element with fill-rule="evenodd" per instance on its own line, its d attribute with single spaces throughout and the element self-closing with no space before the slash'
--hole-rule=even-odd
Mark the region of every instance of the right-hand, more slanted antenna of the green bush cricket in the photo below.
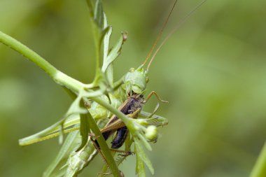
<svg viewBox="0 0 266 177">
<path fill-rule="evenodd" d="M 159 47 L 155 50 L 153 57 L 151 57 L 151 61 L 148 63 L 148 67 L 147 67 L 147 71 L 149 69 L 149 67 L 151 66 L 151 63 L 153 62 L 153 59 L 155 58 L 155 56 L 157 55 L 157 53 L 159 52 L 159 50 L 162 48 L 162 45 L 164 45 L 166 43 L 166 41 L 172 36 L 172 34 L 174 34 L 176 32 L 177 29 L 179 29 L 179 27 L 181 27 L 181 24 L 183 24 L 184 22 L 186 22 L 186 20 L 188 20 L 188 17 L 190 17 L 191 15 L 193 15 L 193 13 L 195 13 L 195 11 L 197 9 L 200 8 L 200 6 L 202 6 L 203 3 L 205 3 L 205 1 L 207 0 L 203 0 L 201 1 L 197 6 L 195 6 L 195 8 L 193 8 L 193 10 L 190 11 L 190 13 L 188 13 L 185 17 L 183 17 L 183 19 L 181 19 L 178 24 L 176 25 L 176 27 L 174 27 L 174 29 L 167 35 L 167 37 L 164 39 L 164 41 L 162 41 L 162 43 L 159 45 Z"/>
</svg>

